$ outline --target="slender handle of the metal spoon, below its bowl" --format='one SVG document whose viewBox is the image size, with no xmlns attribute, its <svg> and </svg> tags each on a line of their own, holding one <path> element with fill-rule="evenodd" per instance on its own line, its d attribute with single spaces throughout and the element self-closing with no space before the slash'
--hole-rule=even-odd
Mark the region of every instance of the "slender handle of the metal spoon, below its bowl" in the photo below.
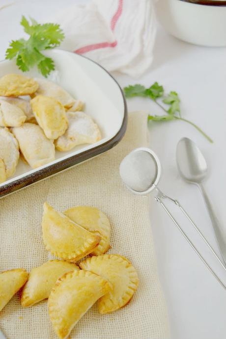
<svg viewBox="0 0 226 339">
<path fill-rule="evenodd" d="M 205 201 L 206 208 L 209 212 L 210 219 L 212 221 L 213 229 L 216 235 L 216 239 L 219 245 L 219 249 L 222 255 L 223 260 L 226 263 L 226 232 L 224 232 L 222 226 L 220 225 L 220 222 L 213 210 L 212 204 L 206 194 L 206 191 L 201 183 L 198 184 L 198 187 L 202 193 L 202 196 Z"/>
</svg>

